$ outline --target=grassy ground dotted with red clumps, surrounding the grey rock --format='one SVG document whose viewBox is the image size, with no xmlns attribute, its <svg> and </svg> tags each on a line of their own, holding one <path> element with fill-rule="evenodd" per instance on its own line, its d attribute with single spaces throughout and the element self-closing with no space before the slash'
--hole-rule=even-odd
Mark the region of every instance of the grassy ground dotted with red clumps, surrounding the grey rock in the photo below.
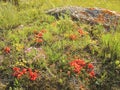
<svg viewBox="0 0 120 90">
<path fill-rule="evenodd" d="M 0 2 L 0 78 L 3 90 L 119 90 L 119 30 L 56 20 L 45 10 L 100 7 L 120 12 L 119 0 Z"/>
</svg>

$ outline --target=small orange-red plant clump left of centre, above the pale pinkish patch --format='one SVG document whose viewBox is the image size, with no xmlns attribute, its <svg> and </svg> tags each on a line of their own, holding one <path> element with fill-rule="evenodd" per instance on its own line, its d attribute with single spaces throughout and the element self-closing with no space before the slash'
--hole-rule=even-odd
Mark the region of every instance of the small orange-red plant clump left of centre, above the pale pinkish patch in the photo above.
<svg viewBox="0 0 120 90">
<path fill-rule="evenodd" d="M 43 42 L 43 33 L 45 33 L 46 30 L 41 30 L 40 32 L 37 32 L 36 30 L 34 31 L 35 34 L 35 41 L 37 43 L 42 43 Z"/>
</svg>

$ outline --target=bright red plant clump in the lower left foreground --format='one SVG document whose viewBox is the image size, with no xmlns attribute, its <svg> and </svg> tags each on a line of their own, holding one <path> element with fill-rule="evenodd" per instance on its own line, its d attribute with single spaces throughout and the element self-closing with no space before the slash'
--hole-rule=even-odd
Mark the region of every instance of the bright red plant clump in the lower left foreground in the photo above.
<svg viewBox="0 0 120 90">
<path fill-rule="evenodd" d="M 36 78 L 38 77 L 37 72 L 36 71 L 33 72 L 31 68 L 21 69 L 21 68 L 18 68 L 18 67 L 14 67 L 13 71 L 14 71 L 13 76 L 17 77 L 18 79 L 25 74 L 29 75 L 29 79 L 32 80 L 32 81 L 36 80 Z"/>
</svg>

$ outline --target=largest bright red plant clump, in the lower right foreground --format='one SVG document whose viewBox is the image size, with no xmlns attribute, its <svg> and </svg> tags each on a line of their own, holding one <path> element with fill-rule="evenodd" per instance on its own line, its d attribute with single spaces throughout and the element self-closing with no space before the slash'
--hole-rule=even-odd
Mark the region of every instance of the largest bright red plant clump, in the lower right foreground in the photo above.
<svg viewBox="0 0 120 90">
<path fill-rule="evenodd" d="M 75 59 L 70 62 L 70 66 L 73 68 L 75 73 L 80 74 L 82 69 L 85 69 L 91 78 L 95 77 L 94 65 L 86 63 L 84 60 Z"/>
</svg>

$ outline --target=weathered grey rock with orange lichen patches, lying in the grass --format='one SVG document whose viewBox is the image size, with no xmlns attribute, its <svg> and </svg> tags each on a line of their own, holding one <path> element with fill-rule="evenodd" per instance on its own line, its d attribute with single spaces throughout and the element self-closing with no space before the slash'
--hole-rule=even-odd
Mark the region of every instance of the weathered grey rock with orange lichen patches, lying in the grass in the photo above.
<svg viewBox="0 0 120 90">
<path fill-rule="evenodd" d="M 120 14 L 115 11 L 110 11 L 102 8 L 83 8 L 83 7 L 60 7 L 50 9 L 46 11 L 47 14 L 55 16 L 59 19 L 59 16 L 68 15 L 72 20 L 87 21 L 91 24 L 102 24 L 106 28 L 116 27 L 120 24 Z"/>
</svg>

